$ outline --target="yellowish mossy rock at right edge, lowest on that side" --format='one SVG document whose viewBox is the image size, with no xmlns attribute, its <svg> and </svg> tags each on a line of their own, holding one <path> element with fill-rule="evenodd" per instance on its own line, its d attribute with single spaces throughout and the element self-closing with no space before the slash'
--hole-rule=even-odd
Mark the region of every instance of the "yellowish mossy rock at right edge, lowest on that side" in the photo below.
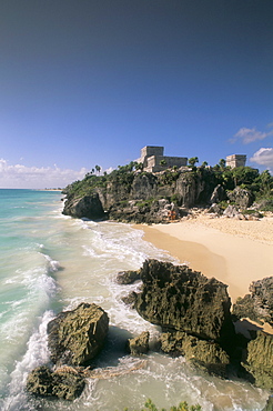
<svg viewBox="0 0 273 411">
<path fill-rule="evenodd" d="M 254 377 L 255 385 L 273 391 L 273 335 L 257 331 L 242 365 Z"/>
</svg>

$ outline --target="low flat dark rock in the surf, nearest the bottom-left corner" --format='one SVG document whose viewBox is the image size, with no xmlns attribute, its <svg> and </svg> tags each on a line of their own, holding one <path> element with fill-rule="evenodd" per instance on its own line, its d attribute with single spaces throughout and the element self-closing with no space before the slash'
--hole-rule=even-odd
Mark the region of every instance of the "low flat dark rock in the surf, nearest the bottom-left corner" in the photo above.
<svg viewBox="0 0 273 411">
<path fill-rule="evenodd" d="M 40 397 L 58 397 L 73 401 L 85 387 L 84 380 L 70 372 L 53 372 L 48 367 L 38 367 L 27 379 L 27 390 Z"/>
</svg>

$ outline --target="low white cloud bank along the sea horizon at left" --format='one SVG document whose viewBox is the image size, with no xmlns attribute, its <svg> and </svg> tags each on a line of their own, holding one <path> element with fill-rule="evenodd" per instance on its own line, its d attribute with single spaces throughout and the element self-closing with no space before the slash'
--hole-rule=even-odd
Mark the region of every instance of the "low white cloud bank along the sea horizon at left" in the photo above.
<svg viewBox="0 0 273 411">
<path fill-rule="evenodd" d="M 80 171 L 51 167 L 10 166 L 7 160 L 0 159 L 0 188 L 44 189 L 64 188 L 75 180 L 81 180 L 88 170 Z"/>
</svg>

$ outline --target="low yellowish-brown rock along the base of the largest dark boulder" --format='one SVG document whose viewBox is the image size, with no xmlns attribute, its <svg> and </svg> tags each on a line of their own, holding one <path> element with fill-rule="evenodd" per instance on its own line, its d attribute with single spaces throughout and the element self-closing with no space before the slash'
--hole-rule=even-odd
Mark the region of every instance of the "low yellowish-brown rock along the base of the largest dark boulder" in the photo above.
<svg viewBox="0 0 273 411">
<path fill-rule="evenodd" d="M 195 367 L 226 378 L 230 357 L 218 343 L 200 340 L 181 331 L 164 332 L 161 334 L 160 341 L 163 352 L 183 355 Z"/>
</svg>

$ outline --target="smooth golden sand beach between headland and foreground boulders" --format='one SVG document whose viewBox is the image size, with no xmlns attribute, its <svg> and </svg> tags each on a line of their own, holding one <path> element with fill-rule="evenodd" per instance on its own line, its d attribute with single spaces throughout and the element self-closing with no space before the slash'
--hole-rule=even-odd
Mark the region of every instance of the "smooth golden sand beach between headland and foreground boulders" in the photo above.
<svg viewBox="0 0 273 411">
<path fill-rule="evenodd" d="M 273 218 L 241 221 L 201 214 L 141 229 L 144 240 L 228 284 L 232 302 L 249 292 L 252 281 L 273 275 Z"/>
</svg>

